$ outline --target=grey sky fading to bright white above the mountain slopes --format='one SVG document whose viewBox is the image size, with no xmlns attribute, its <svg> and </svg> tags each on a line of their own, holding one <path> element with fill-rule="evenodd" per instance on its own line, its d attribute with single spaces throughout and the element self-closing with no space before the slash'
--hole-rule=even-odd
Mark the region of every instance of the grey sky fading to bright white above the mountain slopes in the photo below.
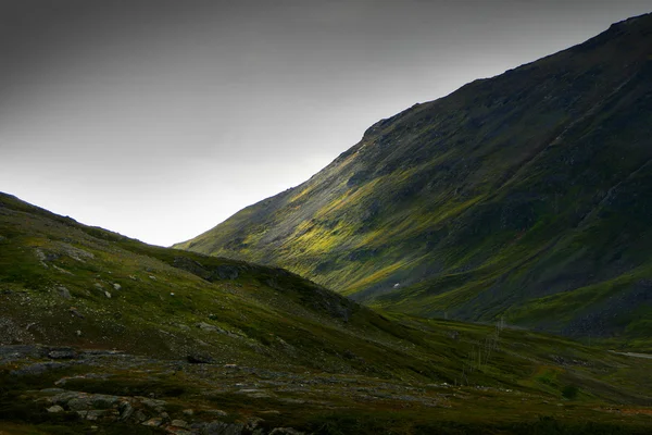
<svg viewBox="0 0 652 435">
<path fill-rule="evenodd" d="M 154 245 L 652 0 L 0 0 L 0 191 Z"/>
</svg>

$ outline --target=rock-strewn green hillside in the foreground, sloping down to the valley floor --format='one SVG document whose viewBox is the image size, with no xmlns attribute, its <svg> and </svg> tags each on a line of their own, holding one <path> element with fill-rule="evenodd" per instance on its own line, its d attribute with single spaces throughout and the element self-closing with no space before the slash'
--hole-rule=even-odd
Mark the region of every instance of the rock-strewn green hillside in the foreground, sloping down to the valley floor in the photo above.
<svg viewBox="0 0 652 435">
<path fill-rule="evenodd" d="M 0 194 L 2 434 L 642 435 L 650 370 L 501 324 L 380 315 Z"/>
</svg>

